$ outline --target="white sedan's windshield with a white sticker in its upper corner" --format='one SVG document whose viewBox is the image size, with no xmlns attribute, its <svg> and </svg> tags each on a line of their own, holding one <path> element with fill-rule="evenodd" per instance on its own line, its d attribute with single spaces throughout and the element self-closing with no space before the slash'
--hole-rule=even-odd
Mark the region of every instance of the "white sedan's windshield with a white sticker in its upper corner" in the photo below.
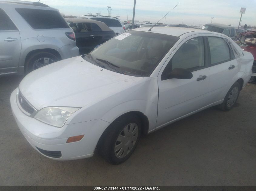
<svg viewBox="0 0 256 191">
<path fill-rule="evenodd" d="M 178 39 L 165 34 L 129 31 L 112 38 L 83 58 L 114 72 L 145 77 L 151 75 Z"/>
</svg>

